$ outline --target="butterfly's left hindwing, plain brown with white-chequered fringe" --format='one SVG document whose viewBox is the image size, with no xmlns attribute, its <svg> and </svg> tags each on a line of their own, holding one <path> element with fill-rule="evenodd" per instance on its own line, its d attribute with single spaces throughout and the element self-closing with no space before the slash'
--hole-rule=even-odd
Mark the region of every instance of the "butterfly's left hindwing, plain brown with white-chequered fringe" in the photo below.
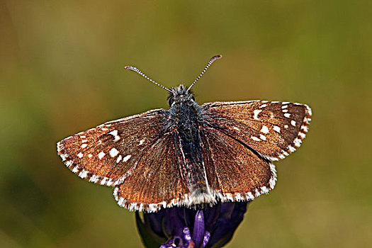
<svg viewBox="0 0 372 248">
<path fill-rule="evenodd" d="M 188 189 L 182 180 L 180 162 L 174 133 L 164 134 L 136 164 L 133 174 L 115 187 L 116 201 L 129 210 L 147 212 L 186 205 Z"/>
</svg>

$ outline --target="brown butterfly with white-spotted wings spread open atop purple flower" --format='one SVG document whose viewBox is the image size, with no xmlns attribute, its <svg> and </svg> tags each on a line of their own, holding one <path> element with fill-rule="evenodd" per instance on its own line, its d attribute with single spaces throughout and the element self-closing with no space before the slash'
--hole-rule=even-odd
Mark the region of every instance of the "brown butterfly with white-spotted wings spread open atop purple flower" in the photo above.
<svg viewBox="0 0 372 248">
<path fill-rule="evenodd" d="M 191 87 L 167 89 L 136 67 L 125 67 L 169 91 L 169 109 L 109 121 L 57 143 L 81 179 L 114 187 L 129 210 L 218 201 L 251 201 L 276 184 L 273 162 L 300 147 L 311 109 L 300 103 L 231 101 L 199 105 Z"/>
</svg>

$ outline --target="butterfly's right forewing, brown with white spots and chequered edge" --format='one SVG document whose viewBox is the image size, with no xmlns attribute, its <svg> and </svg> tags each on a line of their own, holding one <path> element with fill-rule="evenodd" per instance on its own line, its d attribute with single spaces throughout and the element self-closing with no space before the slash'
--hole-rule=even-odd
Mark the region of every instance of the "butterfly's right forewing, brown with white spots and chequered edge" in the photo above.
<svg viewBox="0 0 372 248">
<path fill-rule="evenodd" d="M 241 101 L 205 103 L 210 127 L 235 137 L 267 159 L 283 159 L 308 133 L 311 109 L 300 103 Z"/>
</svg>

